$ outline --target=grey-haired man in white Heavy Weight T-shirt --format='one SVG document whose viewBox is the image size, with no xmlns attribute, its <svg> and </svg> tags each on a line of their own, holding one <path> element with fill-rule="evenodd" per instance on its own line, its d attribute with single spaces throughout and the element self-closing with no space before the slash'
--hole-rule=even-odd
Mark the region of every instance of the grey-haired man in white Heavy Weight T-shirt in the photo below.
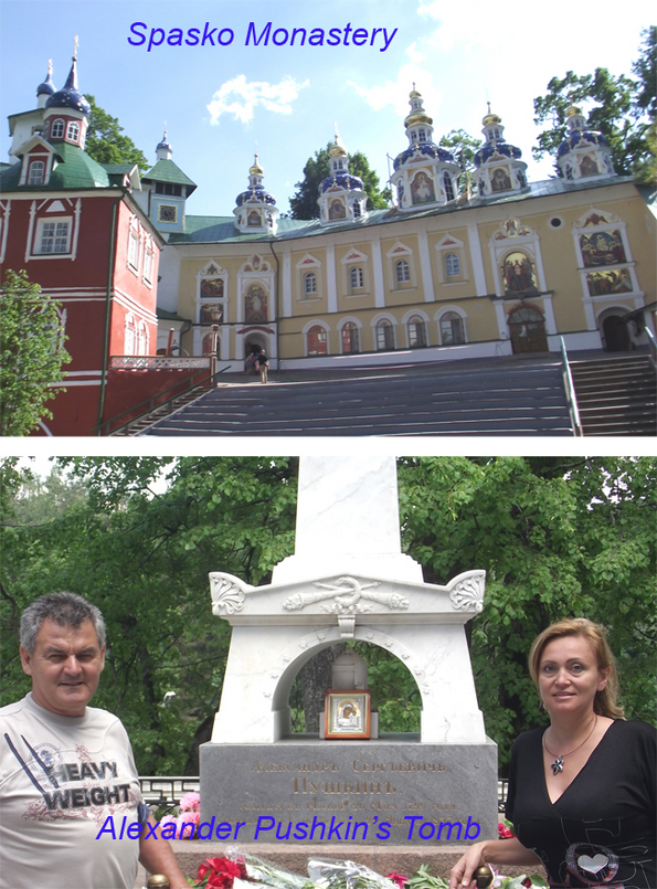
<svg viewBox="0 0 657 889">
<path fill-rule="evenodd" d="M 133 889 L 139 859 L 187 889 L 141 802 L 126 730 L 87 707 L 105 666 L 105 622 L 73 593 L 21 620 L 32 691 L 0 709 L 0 889 Z"/>
</svg>

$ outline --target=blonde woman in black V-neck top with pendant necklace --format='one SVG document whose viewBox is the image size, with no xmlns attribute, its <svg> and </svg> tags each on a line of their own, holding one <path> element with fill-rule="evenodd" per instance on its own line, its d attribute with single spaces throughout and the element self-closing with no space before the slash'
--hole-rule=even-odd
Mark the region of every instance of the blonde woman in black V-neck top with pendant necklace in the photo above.
<svg viewBox="0 0 657 889">
<path fill-rule="evenodd" d="M 511 751 L 512 839 L 477 843 L 449 889 L 484 864 L 543 865 L 551 889 L 656 889 L 657 731 L 625 721 L 603 627 L 584 618 L 543 631 L 529 669 L 550 716 Z"/>
</svg>

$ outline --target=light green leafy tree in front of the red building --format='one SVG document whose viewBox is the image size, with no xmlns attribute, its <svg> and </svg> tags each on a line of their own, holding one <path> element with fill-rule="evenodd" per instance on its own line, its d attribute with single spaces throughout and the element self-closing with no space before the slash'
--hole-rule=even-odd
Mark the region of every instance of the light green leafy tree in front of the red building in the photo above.
<svg viewBox="0 0 657 889">
<path fill-rule="evenodd" d="M 4 274 L 0 288 L 0 428 L 2 435 L 28 435 L 39 421 L 52 419 L 44 406 L 71 361 L 64 348 L 60 304 L 32 284 L 27 272 Z"/>
</svg>

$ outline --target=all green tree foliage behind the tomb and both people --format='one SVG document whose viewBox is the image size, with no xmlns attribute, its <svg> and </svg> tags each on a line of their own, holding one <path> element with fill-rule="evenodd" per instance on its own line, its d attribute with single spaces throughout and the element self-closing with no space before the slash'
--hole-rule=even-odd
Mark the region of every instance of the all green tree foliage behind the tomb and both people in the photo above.
<svg viewBox="0 0 657 889">
<path fill-rule="evenodd" d="M 94 703 L 124 720 L 141 773 L 198 773 L 231 631 L 211 616 L 208 572 L 271 580 L 294 551 L 298 461 L 88 457 L 53 467 L 39 484 L 17 459 L 0 467 L 1 701 L 30 687 L 18 658 L 21 610 L 71 590 L 105 614 L 108 652 Z M 607 626 L 627 716 L 656 721 L 655 458 L 409 457 L 398 472 L 403 548 L 425 580 L 487 572 L 484 611 L 467 632 L 502 768 L 516 734 L 545 719 L 527 654 L 562 616 Z M 417 731 L 421 696 L 405 665 L 358 646 L 382 730 Z M 290 701 L 301 731 L 303 684 L 312 675 L 299 675 Z M 176 695 L 165 707 L 167 691 Z"/>
</svg>

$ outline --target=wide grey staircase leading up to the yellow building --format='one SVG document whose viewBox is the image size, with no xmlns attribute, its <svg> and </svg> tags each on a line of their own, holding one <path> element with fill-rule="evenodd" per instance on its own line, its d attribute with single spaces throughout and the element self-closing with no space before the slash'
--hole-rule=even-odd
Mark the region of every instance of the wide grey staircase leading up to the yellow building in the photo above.
<svg viewBox="0 0 657 889">
<path fill-rule="evenodd" d="M 454 361 L 239 377 L 141 434 L 420 436 L 573 434 L 560 362 Z M 134 433 L 130 433 L 134 434 Z"/>
</svg>

